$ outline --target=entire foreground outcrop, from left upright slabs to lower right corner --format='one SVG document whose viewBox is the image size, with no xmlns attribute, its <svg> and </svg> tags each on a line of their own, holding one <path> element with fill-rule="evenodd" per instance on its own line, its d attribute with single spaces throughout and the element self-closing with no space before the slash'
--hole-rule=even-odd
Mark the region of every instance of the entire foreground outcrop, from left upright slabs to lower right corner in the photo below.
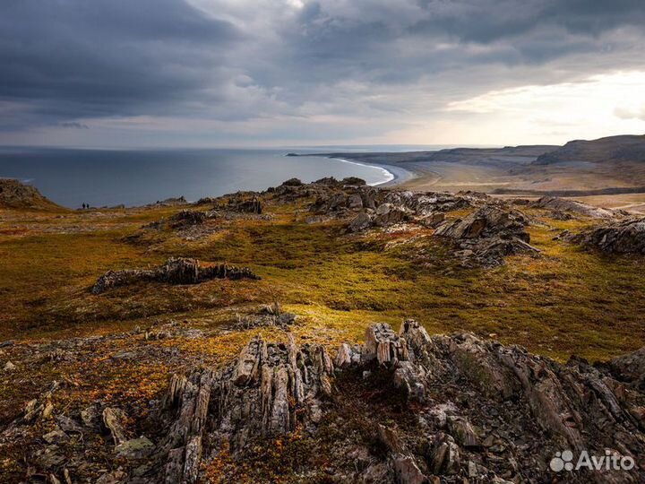
<svg viewBox="0 0 645 484">
<path fill-rule="evenodd" d="M 629 364 L 642 364 L 644 355 L 634 353 Z M 175 420 L 159 459 L 166 481 L 193 482 L 200 458 L 223 445 L 243 458 L 256 439 L 297 426 L 315 439 L 322 419 L 350 404 L 343 389 L 358 385 L 351 383 L 358 374 L 367 393 L 383 395 L 362 419 L 386 452 L 371 454 L 363 470 L 336 462 L 337 472 L 350 472 L 340 480 L 538 483 L 556 477 L 549 462 L 557 452 L 602 456 L 609 449 L 633 460 L 632 471 L 581 470 L 567 482 L 636 483 L 645 477 L 645 395 L 632 376 L 615 379 L 619 366 L 563 366 L 471 334 L 430 336 L 413 320 L 399 333 L 388 324 L 370 326 L 365 344 L 341 345 L 333 363 L 323 347 L 254 338 L 230 367 L 173 377 L 167 405 Z M 392 423 L 397 393 L 414 425 Z M 337 445 L 340 454 L 371 453 L 356 434 Z"/>
</svg>

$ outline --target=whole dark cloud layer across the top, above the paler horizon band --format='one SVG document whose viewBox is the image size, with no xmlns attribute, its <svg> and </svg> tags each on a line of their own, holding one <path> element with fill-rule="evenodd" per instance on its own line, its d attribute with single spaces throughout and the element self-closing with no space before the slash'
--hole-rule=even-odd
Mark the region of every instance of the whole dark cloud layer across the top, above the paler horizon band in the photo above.
<svg viewBox="0 0 645 484">
<path fill-rule="evenodd" d="M 0 130 L 437 108 L 638 68 L 643 24 L 641 0 L 4 0 Z"/>
</svg>

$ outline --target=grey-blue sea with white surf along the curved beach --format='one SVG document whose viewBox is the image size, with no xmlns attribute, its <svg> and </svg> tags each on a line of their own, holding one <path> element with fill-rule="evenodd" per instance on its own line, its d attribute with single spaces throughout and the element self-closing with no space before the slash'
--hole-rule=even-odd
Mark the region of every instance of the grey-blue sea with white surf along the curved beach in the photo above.
<svg viewBox="0 0 645 484">
<path fill-rule="evenodd" d="M 88 150 L 0 147 L 0 178 L 36 186 L 55 203 L 79 208 L 137 206 L 184 196 L 189 202 L 239 190 L 261 191 L 288 178 L 361 177 L 392 184 L 409 172 L 326 157 L 288 157 L 333 151 L 411 151 L 411 146 L 284 149 Z M 436 147 L 433 147 L 436 149 Z"/>
</svg>

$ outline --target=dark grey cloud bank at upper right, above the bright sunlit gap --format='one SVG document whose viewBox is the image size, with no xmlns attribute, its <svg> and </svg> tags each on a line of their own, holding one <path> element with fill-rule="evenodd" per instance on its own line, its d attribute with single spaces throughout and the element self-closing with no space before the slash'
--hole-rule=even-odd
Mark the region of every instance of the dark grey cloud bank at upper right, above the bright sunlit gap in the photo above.
<svg viewBox="0 0 645 484">
<path fill-rule="evenodd" d="M 289 26 L 285 33 L 291 55 L 313 69 L 303 69 L 305 76 L 323 75 L 324 69 L 333 66 L 336 74 L 400 82 L 464 65 L 544 63 L 594 52 L 603 32 L 621 26 L 641 29 L 645 24 L 641 1 L 416 3 L 418 12 L 399 8 L 406 3 L 355 0 L 355 7 L 344 14 L 331 8 L 337 3 L 307 4 L 297 28 Z M 462 50 L 435 49 L 444 43 Z M 487 48 L 469 50 L 469 45 Z"/>
</svg>

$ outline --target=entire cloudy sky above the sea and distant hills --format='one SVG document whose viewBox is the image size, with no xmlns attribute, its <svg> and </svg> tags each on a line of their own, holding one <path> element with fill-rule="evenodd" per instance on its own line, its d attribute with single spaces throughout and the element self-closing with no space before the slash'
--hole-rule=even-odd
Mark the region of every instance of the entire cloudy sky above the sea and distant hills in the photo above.
<svg viewBox="0 0 645 484">
<path fill-rule="evenodd" d="M 0 145 L 645 133 L 642 0 L 3 0 Z"/>
</svg>

